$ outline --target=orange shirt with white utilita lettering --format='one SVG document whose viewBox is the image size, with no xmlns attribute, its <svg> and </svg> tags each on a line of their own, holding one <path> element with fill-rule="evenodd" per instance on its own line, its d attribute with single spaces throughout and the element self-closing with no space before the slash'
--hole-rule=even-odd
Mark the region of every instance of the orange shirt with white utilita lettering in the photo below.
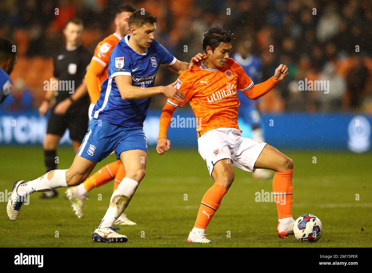
<svg viewBox="0 0 372 273">
<path fill-rule="evenodd" d="M 228 58 L 224 67 L 204 68 L 204 62 L 186 69 L 175 85 L 185 94 L 185 101 L 168 99 L 173 107 L 183 107 L 187 102 L 196 117 L 198 137 L 216 128 L 235 128 L 238 126 L 238 107 L 240 101 L 237 92 L 253 87 L 253 81 L 244 69 L 233 59 Z"/>
</svg>

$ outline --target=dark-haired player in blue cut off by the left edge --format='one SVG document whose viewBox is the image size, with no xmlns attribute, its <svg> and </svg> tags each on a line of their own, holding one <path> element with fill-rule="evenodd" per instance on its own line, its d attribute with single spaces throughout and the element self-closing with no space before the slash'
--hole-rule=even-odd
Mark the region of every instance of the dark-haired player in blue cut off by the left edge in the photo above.
<svg viewBox="0 0 372 273">
<path fill-rule="evenodd" d="M 0 103 L 13 90 L 13 82 L 10 79 L 14 65 L 16 63 L 16 51 L 13 43 L 5 38 L 0 38 Z"/>
</svg>

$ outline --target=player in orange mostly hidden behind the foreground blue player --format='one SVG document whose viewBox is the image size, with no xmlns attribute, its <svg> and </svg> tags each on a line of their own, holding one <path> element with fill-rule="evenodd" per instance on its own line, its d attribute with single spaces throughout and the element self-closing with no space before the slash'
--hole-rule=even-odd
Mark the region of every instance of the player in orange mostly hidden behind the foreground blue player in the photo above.
<svg viewBox="0 0 372 273">
<path fill-rule="evenodd" d="M 108 65 L 111 51 L 116 44 L 125 35 L 129 33 L 128 19 L 131 14 L 135 12 L 135 8 L 131 5 L 122 4 L 116 8 L 115 11 L 115 33 L 107 36 L 100 41 L 94 49 L 94 56 L 90 61 L 89 68 L 85 75 L 88 93 L 90 97 L 89 120 L 92 119 L 92 110 L 96 104 L 100 92 L 102 82 L 108 77 Z M 109 181 L 114 180 L 114 191 L 119 183 L 125 177 L 125 170 L 120 162 L 116 160 L 104 167 L 92 176 L 86 179 L 83 183 L 76 187 L 68 188 L 66 191 L 67 198 L 71 202 L 71 206 L 78 218 L 83 218 L 84 200 L 87 199 L 87 194 L 93 188 L 102 186 Z M 135 225 L 136 223 L 129 220 L 126 214 L 122 214 L 115 222 L 116 225 Z"/>
</svg>

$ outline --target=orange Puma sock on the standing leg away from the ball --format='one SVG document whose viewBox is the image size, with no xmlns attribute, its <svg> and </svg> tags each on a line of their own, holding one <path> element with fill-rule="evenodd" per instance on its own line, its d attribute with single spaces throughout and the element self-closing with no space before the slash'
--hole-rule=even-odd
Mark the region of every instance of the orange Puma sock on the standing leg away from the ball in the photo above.
<svg viewBox="0 0 372 273">
<path fill-rule="evenodd" d="M 227 189 L 217 183 L 214 183 L 213 186 L 208 189 L 203 196 L 194 227 L 205 230 L 213 215 L 219 208 L 222 197 L 224 197 L 226 193 Z"/>
</svg>

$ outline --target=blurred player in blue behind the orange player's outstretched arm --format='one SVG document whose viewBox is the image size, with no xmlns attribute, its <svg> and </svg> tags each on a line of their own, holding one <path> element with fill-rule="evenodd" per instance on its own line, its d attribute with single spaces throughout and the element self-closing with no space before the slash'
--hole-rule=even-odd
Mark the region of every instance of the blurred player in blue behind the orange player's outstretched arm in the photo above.
<svg viewBox="0 0 372 273">
<path fill-rule="evenodd" d="M 250 39 L 241 38 L 237 42 L 237 52 L 232 58 L 243 67 L 253 82 L 261 82 L 261 60 L 251 54 L 251 47 Z M 243 131 L 241 136 L 264 142 L 262 121 L 257 109 L 259 100 L 249 100 L 242 92 L 238 92 L 238 98 L 240 100 L 238 123 Z M 265 169 L 256 169 L 256 172 L 253 173 L 254 179 L 269 179 L 272 176 L 273 173 Z"/>
</svg>

